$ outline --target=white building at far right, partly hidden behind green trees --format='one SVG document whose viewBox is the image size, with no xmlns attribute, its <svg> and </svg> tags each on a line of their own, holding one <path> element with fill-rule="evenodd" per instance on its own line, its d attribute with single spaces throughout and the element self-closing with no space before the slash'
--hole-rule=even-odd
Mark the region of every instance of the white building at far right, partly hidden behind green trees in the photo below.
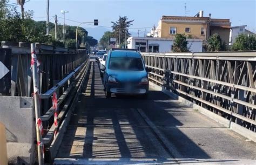
<svg viewBox="0 0 256 165">
<path fill-rule="evenodd" d="M 233 45 L 235 42 L 235 38 L 237 38 L 238 35 L 240 34 L 245 34 L 245 35 L 254 35 L 253 32 L 245 29 L 247 25 L 242 25 L 242 26 L 233 26 L 230 29 L 230 44 Z"/>
</svg>

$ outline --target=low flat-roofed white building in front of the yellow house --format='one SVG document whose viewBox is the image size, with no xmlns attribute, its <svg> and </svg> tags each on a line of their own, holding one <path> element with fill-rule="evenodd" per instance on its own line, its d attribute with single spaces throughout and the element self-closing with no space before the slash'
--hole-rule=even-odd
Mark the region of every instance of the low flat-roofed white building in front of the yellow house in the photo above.
<svg viewBox="0 0 256 165">
<path fill-rule="evenodd" d="M 203 40 L 187 39 L 190 52 L 202 52 Z M 155 37 L 129 37 L 127 39 L 128 49 L 137 49 L 140 52 L 172 52 L 173 38 Z"/>
</svg>

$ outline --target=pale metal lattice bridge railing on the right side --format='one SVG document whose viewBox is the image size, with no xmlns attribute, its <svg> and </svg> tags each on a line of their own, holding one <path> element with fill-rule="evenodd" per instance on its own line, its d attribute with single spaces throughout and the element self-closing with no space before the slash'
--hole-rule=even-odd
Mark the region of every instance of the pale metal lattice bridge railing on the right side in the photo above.
<svg viewBox="0 0 256 165">
<path fill-rule="evenodd" d="M 256 132 L 256 52 L 142 56 L 154 84 Z"/>
</svg>

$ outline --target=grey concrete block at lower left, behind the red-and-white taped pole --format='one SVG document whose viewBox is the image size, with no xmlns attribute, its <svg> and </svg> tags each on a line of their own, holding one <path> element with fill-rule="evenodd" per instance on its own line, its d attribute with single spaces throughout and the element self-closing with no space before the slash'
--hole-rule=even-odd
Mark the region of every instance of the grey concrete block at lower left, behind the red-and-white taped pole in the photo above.
<svg viewBox="0 0 256 165">
<path fill-rule="evenodd" d="M 34 162 L 36 153 L 34 118 L 32 98 L 0 96 L 0 122 L 6 128 L 9 163 Z"/>
</svg>

